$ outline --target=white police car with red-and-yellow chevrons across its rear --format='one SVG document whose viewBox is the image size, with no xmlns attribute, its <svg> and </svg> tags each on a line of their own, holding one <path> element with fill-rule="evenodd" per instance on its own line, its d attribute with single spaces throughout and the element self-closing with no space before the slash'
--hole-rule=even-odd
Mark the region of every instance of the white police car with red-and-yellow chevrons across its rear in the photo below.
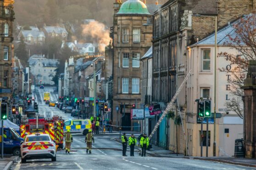
<svg viewBox="0 0 256 170">
<path fill-rule="evenodd" d="M 49 134 L 27 135 L 21 145 L 22 163 L 28 159 L 51 159 L 56 161 L 56 144 Z"/>
</svg>

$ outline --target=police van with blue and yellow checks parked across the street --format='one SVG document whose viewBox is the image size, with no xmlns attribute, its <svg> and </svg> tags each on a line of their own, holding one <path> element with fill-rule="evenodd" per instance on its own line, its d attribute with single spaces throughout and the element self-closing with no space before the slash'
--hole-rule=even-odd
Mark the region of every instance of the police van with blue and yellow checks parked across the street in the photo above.
<svg viewBox="0 0 256 170">
<path fill-rule="evenodd" d="M 64 133 L 67 132 L 67 129 L 70 130 L 70 133 L 83 133 L 86 135 L 89 129 L 92 128 L 92 123 L 89 119 L 78 119 L 78 120 L 67 120 L 64 122 Z"/>
</svg>

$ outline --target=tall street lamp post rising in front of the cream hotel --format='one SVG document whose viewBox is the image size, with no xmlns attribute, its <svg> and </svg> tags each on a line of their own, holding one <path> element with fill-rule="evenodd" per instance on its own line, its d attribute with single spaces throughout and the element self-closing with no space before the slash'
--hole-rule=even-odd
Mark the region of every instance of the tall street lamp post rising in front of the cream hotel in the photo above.
<svg viewBox="0 0 256 170">
<path fill-rule="evenodd" d="M 194 16 L 204 16 L 204 15 L 194 15 Z M 217 25 L 218 17 L 217 16 L 207 16 L 215 18 L 215 44 L 214 44 L 214 129 L 213 129 L 213 156 L 216 156 L 216 84 L 217 84 L 217 75 L 216 75 L 216 63 L 217 63 Z"/>
</svg>

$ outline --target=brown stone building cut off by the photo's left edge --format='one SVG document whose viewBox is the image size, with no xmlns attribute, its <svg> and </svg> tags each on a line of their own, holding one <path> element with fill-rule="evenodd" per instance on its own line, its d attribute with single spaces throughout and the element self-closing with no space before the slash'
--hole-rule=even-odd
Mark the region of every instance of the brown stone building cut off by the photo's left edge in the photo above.
<svg viewBox="0 0 256 170">
<path fill-rule="evenodd" d="M 0 0 L 0 98 L 11 97 L 11 59 L 13 52 L 14 0 Z"/>
</svg>

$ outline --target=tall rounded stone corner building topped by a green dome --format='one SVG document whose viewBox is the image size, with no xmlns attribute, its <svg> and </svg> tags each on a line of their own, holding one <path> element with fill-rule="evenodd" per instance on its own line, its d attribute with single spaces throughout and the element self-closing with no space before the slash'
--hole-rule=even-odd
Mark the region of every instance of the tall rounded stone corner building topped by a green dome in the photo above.
<svg viewBox="0 0 256 170">
<path fill-rule="evenodd" d="M 119 0 L 120 3 L 120 0 Z M 118 7 L 118 2 L 115 4 Z M 118 10 L 114 7 L 114 12 Z M 114 15 L 113 26 L 113 123 L 131 130 L 138 126 L 130 119 L 133 104 L 141 104 L 140 58 L 151 47 L 152 15 L 140 0 L 127 0 Z M 135 130 L 135 129 L 134 129 Z M 139 128 L 137 128 L 139 130 Z"/>
</svg>

